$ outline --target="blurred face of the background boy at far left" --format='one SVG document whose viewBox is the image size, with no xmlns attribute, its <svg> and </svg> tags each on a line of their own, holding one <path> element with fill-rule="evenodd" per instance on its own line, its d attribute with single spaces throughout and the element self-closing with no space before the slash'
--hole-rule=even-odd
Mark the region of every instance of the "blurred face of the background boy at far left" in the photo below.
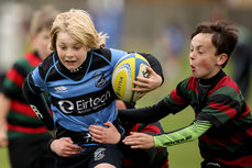
<svg viewBox="0 0 252 168">
<path fill-rule="evenodd" d="M 50 44 L 50 30 L 43 29 L 40 33 L 32 36 L 32 44 L 42 60 L 44 60 L 52 53 L 52 51 L 47 48 Z"/>
</svg>

